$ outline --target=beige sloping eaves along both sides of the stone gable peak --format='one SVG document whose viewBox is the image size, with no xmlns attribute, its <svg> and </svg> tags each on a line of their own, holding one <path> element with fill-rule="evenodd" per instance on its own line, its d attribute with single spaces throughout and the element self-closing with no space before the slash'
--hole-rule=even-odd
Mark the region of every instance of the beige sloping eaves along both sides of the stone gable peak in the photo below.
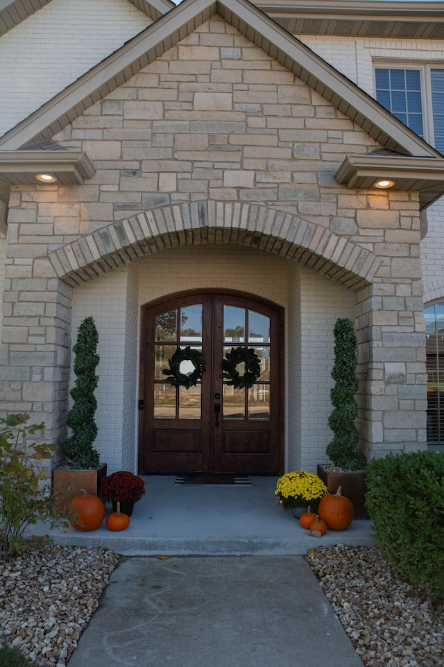
<svg viewBox="0 0 444 667">
<path fill-rule="evenodd" d="M 441 157 L 373 98 L 246 0 L 188 0 L 177 6 L 6 132 L 0 138 L 0 148 L 18 149 L 50 139 L 216 13 L 384 148 L 406 155 Z"/>
</svg>

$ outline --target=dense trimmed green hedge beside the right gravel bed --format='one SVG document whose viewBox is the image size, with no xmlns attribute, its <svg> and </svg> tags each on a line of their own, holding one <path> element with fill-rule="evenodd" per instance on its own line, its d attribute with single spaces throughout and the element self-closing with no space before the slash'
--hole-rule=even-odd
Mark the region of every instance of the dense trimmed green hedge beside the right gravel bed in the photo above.
<svg viewBox="0 0 444 667">
<path fill-rule="evenodd" d="M 388 454 L 368 470 L 366 506 L 379 548 L 404 577 L 444 597 L 444 453 Z"/>
</svg>

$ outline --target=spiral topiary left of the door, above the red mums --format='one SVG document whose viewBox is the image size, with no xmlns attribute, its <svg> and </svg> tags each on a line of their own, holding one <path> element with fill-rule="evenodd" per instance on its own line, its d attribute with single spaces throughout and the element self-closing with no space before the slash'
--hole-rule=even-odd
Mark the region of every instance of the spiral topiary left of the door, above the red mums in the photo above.
<svg viewBox="0 0 444 667">
<path fill-rule="evenodd" d="M 92 446 L 98 433 L 94 420 L 97 409 L 94 390 L 99 383 L 99 376 L 96 375 L 96 366 L 100 361 L 99 354 L 96 354 L 98 343 L 99 333 L 94 319 L 85 318 L 78 327 L 77 342 L 73 347 L 76 383 L 70 392 L 74 405 L 67 415 L 67 425 L 72 433 L 63 444 L 63 451 L 74 470 L 99 465 L 99 453 Z"/>
</svg>

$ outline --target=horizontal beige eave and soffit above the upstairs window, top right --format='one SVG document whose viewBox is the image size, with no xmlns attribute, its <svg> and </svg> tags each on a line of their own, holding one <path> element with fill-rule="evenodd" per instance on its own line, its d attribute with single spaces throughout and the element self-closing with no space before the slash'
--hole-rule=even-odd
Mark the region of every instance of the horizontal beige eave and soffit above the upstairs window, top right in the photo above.
<svg viewBox="0 0 444 667">
<path fill-rule="evenodd" d="M 295 35 L 444 39 L 443 2 L 255 0 Z"/>
</svg>

